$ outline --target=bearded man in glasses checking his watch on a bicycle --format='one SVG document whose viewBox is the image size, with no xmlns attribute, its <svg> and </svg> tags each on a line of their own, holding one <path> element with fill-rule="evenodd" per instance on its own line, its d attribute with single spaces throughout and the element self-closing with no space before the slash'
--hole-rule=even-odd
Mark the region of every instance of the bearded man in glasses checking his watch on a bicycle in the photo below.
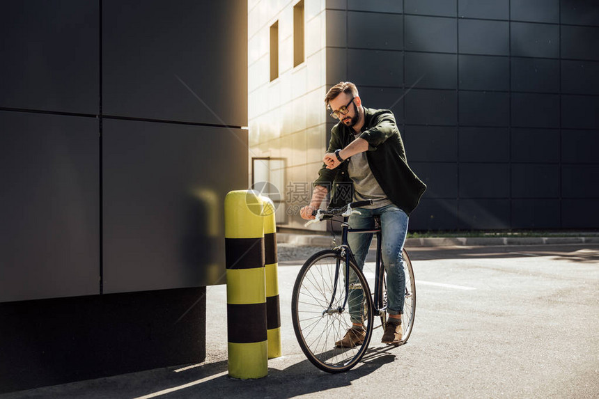
<svg viewBox="0 0 599 399">
<path fill-rule="evenodd" d="M 426 185 L 407 165 L 403 141 L 391 111 L 363 107 L 355 84 L 343 81 L 328 91 L 325 103 L 339 123 L 331 131 L 331 141 L 323 159 L 325 164 L 314 182 L 311 202 L 300 210 L 300 214 L 304 219 L 314 219 L 312 212 L 320 208 L 328 187 L 332 187 L 333 206 L 373 200 L 373 205 L 360 208 L 361 214 L 352 214 L 349 224 L 351 228 L 371 228 L 373 216 L 380 215 L 389 313 L 382 343 L 398 344 L 402 339 L 401 315 L 405 300 L 402 250 L 407 221 Z M 342 198 L 343 188 L 348 187 L 348 183 L 353 188 L 352 197 L 345 195 Z M 364 267 L 372 237 L 372 234 L 350 234 L 348 237 L 360 268 Z M 339 347 L 361 345 L 366 336 L 359 309 L 350 307 L 349 310 L 352 327 L 336 342 Z"/>
</svg>

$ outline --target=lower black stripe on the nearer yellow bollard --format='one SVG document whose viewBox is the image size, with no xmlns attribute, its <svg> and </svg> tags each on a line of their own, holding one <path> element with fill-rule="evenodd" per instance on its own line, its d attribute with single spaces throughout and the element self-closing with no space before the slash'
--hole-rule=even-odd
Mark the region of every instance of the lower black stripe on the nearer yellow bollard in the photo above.
<svg viewBox="0 0 599 399">
<path fill-rule="evenodd" d="M 254 343 L 267 340 L 266 303 L 226 306 L 228 342 Z"/>
</svg>

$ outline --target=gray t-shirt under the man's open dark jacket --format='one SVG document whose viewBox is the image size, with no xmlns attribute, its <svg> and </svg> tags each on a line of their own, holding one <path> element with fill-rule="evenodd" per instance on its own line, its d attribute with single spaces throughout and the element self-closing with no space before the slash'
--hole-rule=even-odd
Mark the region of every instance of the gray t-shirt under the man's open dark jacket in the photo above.
<svg viewBox="0 0 599 399">
<path fill-rule="evenodd" d="M 371 167 L 368 166 L 366 152 L 358 152 L 350 157 L 348 173 L 350 179 L 354 182 L 353 201 L 373 200 L 373 205 L 366 205 L 363 207 L 366 209 L 375 209 L 391 205 L 391 200 L 384 194 L 371 171 Z"/>
</svg>

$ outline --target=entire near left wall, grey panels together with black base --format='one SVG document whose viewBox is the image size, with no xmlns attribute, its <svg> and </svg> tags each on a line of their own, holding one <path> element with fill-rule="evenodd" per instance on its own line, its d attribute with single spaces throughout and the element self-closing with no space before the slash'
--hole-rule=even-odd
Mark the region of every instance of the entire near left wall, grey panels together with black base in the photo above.
<svg viewBox="0 0 599 399">
<path fill-rule="evenodd" d="M 5 1 L 0 33 L 0 393 L 203 361 L 247 3 Z"/>
</svg>

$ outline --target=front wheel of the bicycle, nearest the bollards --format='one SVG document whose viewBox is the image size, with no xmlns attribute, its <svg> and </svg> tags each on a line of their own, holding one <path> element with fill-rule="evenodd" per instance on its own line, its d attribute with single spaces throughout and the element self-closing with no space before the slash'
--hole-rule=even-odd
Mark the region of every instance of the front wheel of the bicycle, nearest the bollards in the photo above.
<svg viewBox="0 0 599 399">
<path fill-rule="evenodd" d="M 372 336 L 373 308 L 364 274 L 350 263 L 348 292 L 344 275 L 345 258 L 339 251 L 321 251 L 306 260 L 293 287 L 291 317 L 297 342 L 309 361 L 329 373 L 355 366 Z M 352 322 L 364 324 L 364 342 L 355 347 L 336 346 Z"/>
</svg>

